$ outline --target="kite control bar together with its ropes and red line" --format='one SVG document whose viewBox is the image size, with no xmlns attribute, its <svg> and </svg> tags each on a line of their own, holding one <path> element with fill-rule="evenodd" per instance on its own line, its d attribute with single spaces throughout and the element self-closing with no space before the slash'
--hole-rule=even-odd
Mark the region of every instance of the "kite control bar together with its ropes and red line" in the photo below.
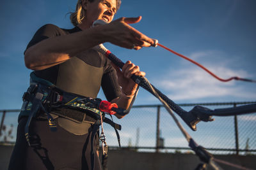
<svg viewBox="0 0 256 170">
<path fill-rule="evenodd" d="M 93 26 L 104 25 L 104 24 L 106 24 L 106 22 L 104 22 L 102 20 L 97 20 L 93 23 Z M 157 43 L 157 40 L 156 40 L 154 46 L 157 46 L 157 45 L 161 46 L 159 43 Z M 103 55 L 106 55 L 106 57 L 108 57 L 108 59 L 110 59 L 116 66 L 120 67 L 120 69 L 122 69 L 122 67 L 124 66 L 124 62 L 122 62 L 122 60 L 118 59 L 113 53 L 111 53 L 108 49 L 106 49 L 102 44 L 97 45 L 93 48 L 95 50 L 99 51 L 100 53 L 102 53 Z M 179 56 L 180 56 L 180 54 L 179 54 Z M 184 57 L 184 56 L 180 56 L 180 57 Z M 204 69 L 204 67 L 202 67 L 202 68 Z M 207 70 L 205 70 L 205 71 L 207 71 Z M 207 71 L 207 72 L 209 73 L 209 71 Z M 215 75 L 212 75 L 212 76 L 216 77 Z M 216 161 L 220 162 L 220 160 L 215 159 L 214 157 L 212 157 L 212 155 L 209 152 L 207 152 L 207 150 L 205 150 L 204 147 L 196 144 L 196 142 L 193 140 L 193 138 L 191 138 L 191 136 L 188 134 L 188 132 L 186 132 L 186 130 L 179 123 L 179 121 L 173 114 L 172 110 L 175 111 L 175 113 L 177 113 L 182 118 L 182 120 L 184 120 L 184 122 L 186 122 L 186 124 L 193 131 L 196 131 L 196 124 L 198 122 L 200 122 L 201 120 L 204 122 L 214 120 L 211 118 L 212 115 L 214 115 L 214 116 L 230 116 L 230 115 L 241 115 L 241 114 L 245 114 L 245 113 L 256 112 L 256 103 L 248 104 L 248 105 L 244 105 L 244 106 L 238 106 L 236 108 L 223 108 L 223 109 L 216 109 L 216 110 L 210 110 L 209 108 L 205 108 L 202 106 L 195 106 L 191 111 L 184 111 L 177 104 L 175 104 L 171 99 L 169 99 L 163 93 L 161 93 L 159 90 L 157 90 L 156 87 L 151 85 L 149 83 L 149 81 L 147 80 L 147 78 L 144 78 L 141 76 L 136 76 L 134 74 L 131 76 L 131 78 L 132 78 L 132 80 L 134 80 L 135 83 L 140 85 L 140 87 L 143 87 L 143 89 L 145 89 L 148 92 L 150 92 L 151 94 L 153 94 L 155 97 L 157 97 L 157 99 L 159 99 L 164 104 L 166 110 L 173 117 L 173 119 L 175 120 L 175 123 L 179 127 L 180 131 L 182 131 L 182 134 L 184 134 L 185 138 L 187 139 L 187 141 L 189 143 L 189 147 L 196 153 L 196 155 L 198 155 L 198 157 L 200 158 L 200 160 L 202 160 L 202 162 L 211 165 L 214 169 L 221 169 L 221 167 L 219 167 L 218 164 L 216 164 Z M 237 77 L 231 78 L 230 80 L 232 80 L 232 79 L 248 81 L 246 79 L 237 78 Z M 224 80 L 224 81 L 230 81 L 230 80 Z M 254 80 L 253 81 L 250 80 L 250 81 L 256 82 Z M 170 108 L 172 110 L 170 110 Z M 231 165 L 229 162 L 225 162 L 225 161 L 221 161 L 221 162 L 223 164 L 228 164 L 229 166 L 239 167 L 241 169 L 244 169 L 244 167 L 237 166 L 235 164 Z M 198 167 L 196 167 L 196 170 L 197 169 L 205 169 L 205 164 L 198 165 Z"/>
</svg>

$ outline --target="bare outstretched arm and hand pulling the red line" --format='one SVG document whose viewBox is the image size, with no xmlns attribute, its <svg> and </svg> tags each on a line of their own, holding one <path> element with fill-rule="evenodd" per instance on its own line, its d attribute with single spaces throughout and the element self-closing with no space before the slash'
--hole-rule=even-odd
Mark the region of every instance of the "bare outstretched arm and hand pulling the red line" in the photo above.
<svg viewBox="0 0 256 170">
<path fill-rule="evenodd" d="M 142 46 L 154 45 L 153 39 L 129 25 L 140 22 L 140 20 L 141 17 L 122 17 L 110 24 L 84 29 L 65 36 L 44 39 L 26 50 L 24 57 L 26 67 L 33 70 L 46 69 L 105 42 L 136 50 Z"/>
</svg>

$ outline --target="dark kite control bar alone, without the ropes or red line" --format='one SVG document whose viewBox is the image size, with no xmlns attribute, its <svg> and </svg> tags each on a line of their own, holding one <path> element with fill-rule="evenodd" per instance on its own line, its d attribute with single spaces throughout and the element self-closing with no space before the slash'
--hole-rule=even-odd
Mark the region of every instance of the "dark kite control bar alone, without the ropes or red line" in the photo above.
<svg viewBox="0 0 256 170">
<path fill-rule="evenodd" d="M 104 25 L 106 22 L 103 20 L 96 20 L 93 22 L 93 27 L 97 25 Z M 155 39 L 155 45 L 159 45 L 157 39 Z M 113 53 L 111 53 L 104 45 L 100 44 L 93 47 L 95 50 L 99 51 L 100 53 L 106 55 L 109 60 L 111 60 L 116 66 L 122 67 L 124 66 L 124 62 L 122 60 L 118 59 Z M 239 106 L 236 108 L 226 108 L 226 109 L 218 109 L 218 110 L 210 110 L 209 108 L 205 108 L 202 106 L 195 106 L 191 111 L 185 111 L 182 108 L 180 108 L 176 103 L 174 103 L 171 99 L 169 99 L 167 96 L 165 96 L 163 93 L 161 93 L 154 85 L 149 85 L 148 81 L 145 80 L 145 78 L 141 76 L 132 75 L 132 80 L 134 80 L 135 83 L 140 85 L 143 89 L 147 90 L 154 96 L 156 94 L 154 91 L 158 94 L 159 97 L 161 97 L 167 104 L 170 106 L 170 108 L 177 113 L 184 122 L 193 130 L 196 131 L 196 124 L 200 122 L 200 120 L 204 122 L 213 121 L 214 119 L 211 118 L 212 115 L 215 116 L 229 116 L 229 115 L 239 115 L 243 113 L 253 113 L 256 112 L 256 104 L 250 104 L 245 106 Z M 153 87 L 154 90 L 150 89 L 150 86 Z M 156 96 L 157 97 L 157 96 Z"/>
</svg>

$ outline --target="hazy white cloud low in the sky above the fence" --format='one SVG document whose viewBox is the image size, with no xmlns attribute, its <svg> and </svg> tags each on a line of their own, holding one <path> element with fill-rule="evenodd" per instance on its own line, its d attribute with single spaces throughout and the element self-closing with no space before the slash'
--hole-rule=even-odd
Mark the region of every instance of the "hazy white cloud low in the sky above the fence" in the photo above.
<svg viewBox="0 0 256 170">
<path fill-rule="evenodd" d="M 227 79 L 232 76 L 250 78 L 250 74 L 246 73 L 246 71 L 243 71 L 242 69 L 234 70 L 225 66 L 228 65 L 228 62 L 232 62 L 231 59 L 223 60 L 221 61 L 221 66 L 213 67 L 209 60 L 214 60 L 214 56 L 216 56 L 216 54 L 218 54 L 217 56 L 220 56 L 220 53 L 221 52 L 214 51 L 196 52 L 192 53 L 190 56 L 198 58 L 207 55 L 208 60 L 205 62 L 205 67 L 220 78 Z M 227 57 L 225 58 L 227 59 Z M 171 68 L 166 71 L 166 73 L 170 74 L 166 74 L 164 77 L 160 77 L 155 81 L 157 82 L 156 87 L 164 89 L 165 92 L 169 94 L 167 96 L 173 100 L 202 99 L 205 97 L 224 96 L 254 99 L 256 96 L 255 92 L 251 92 L 243 85 L 238 86 L 234 80 L 226 83 L 221 82 L 206 73 L 203 69 L 197 66 L 191 66 L 191 64 L 186 64 L 179 70 Z"/>
</svg>

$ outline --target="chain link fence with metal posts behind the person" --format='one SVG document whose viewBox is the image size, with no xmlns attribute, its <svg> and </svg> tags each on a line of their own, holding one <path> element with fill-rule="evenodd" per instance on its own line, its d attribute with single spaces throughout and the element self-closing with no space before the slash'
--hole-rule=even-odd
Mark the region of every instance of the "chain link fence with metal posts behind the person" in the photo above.
<svg viewBox="0 0 256 170">
<path fill-rule="evenodd" d="M 214 109 L 250 103 L 198 103 L 180 104 L 180 106 L 189 111 L 195 105 Z M 19 110 L 0 110 L 2 143 L 15 143 L 18 115 Z M 256 113 L 214 117 L 214 122 L 199 122 L 197 131 L 192 131 L 179 116 L 177 118 L 196 143 L 207 148 L 212 154 L 256 154 Z M 129 115 L 120 120 L 114 118 L 114 122 L 122 125 L 119 134 L 124 149 L 139 152 L 191 152 L 188 142 L 170 114 L 161 105 L 133 106 Z M 113 127 L 104 124 L 104 132 L 109 148 L 118 148 Z"/>
</svg>

